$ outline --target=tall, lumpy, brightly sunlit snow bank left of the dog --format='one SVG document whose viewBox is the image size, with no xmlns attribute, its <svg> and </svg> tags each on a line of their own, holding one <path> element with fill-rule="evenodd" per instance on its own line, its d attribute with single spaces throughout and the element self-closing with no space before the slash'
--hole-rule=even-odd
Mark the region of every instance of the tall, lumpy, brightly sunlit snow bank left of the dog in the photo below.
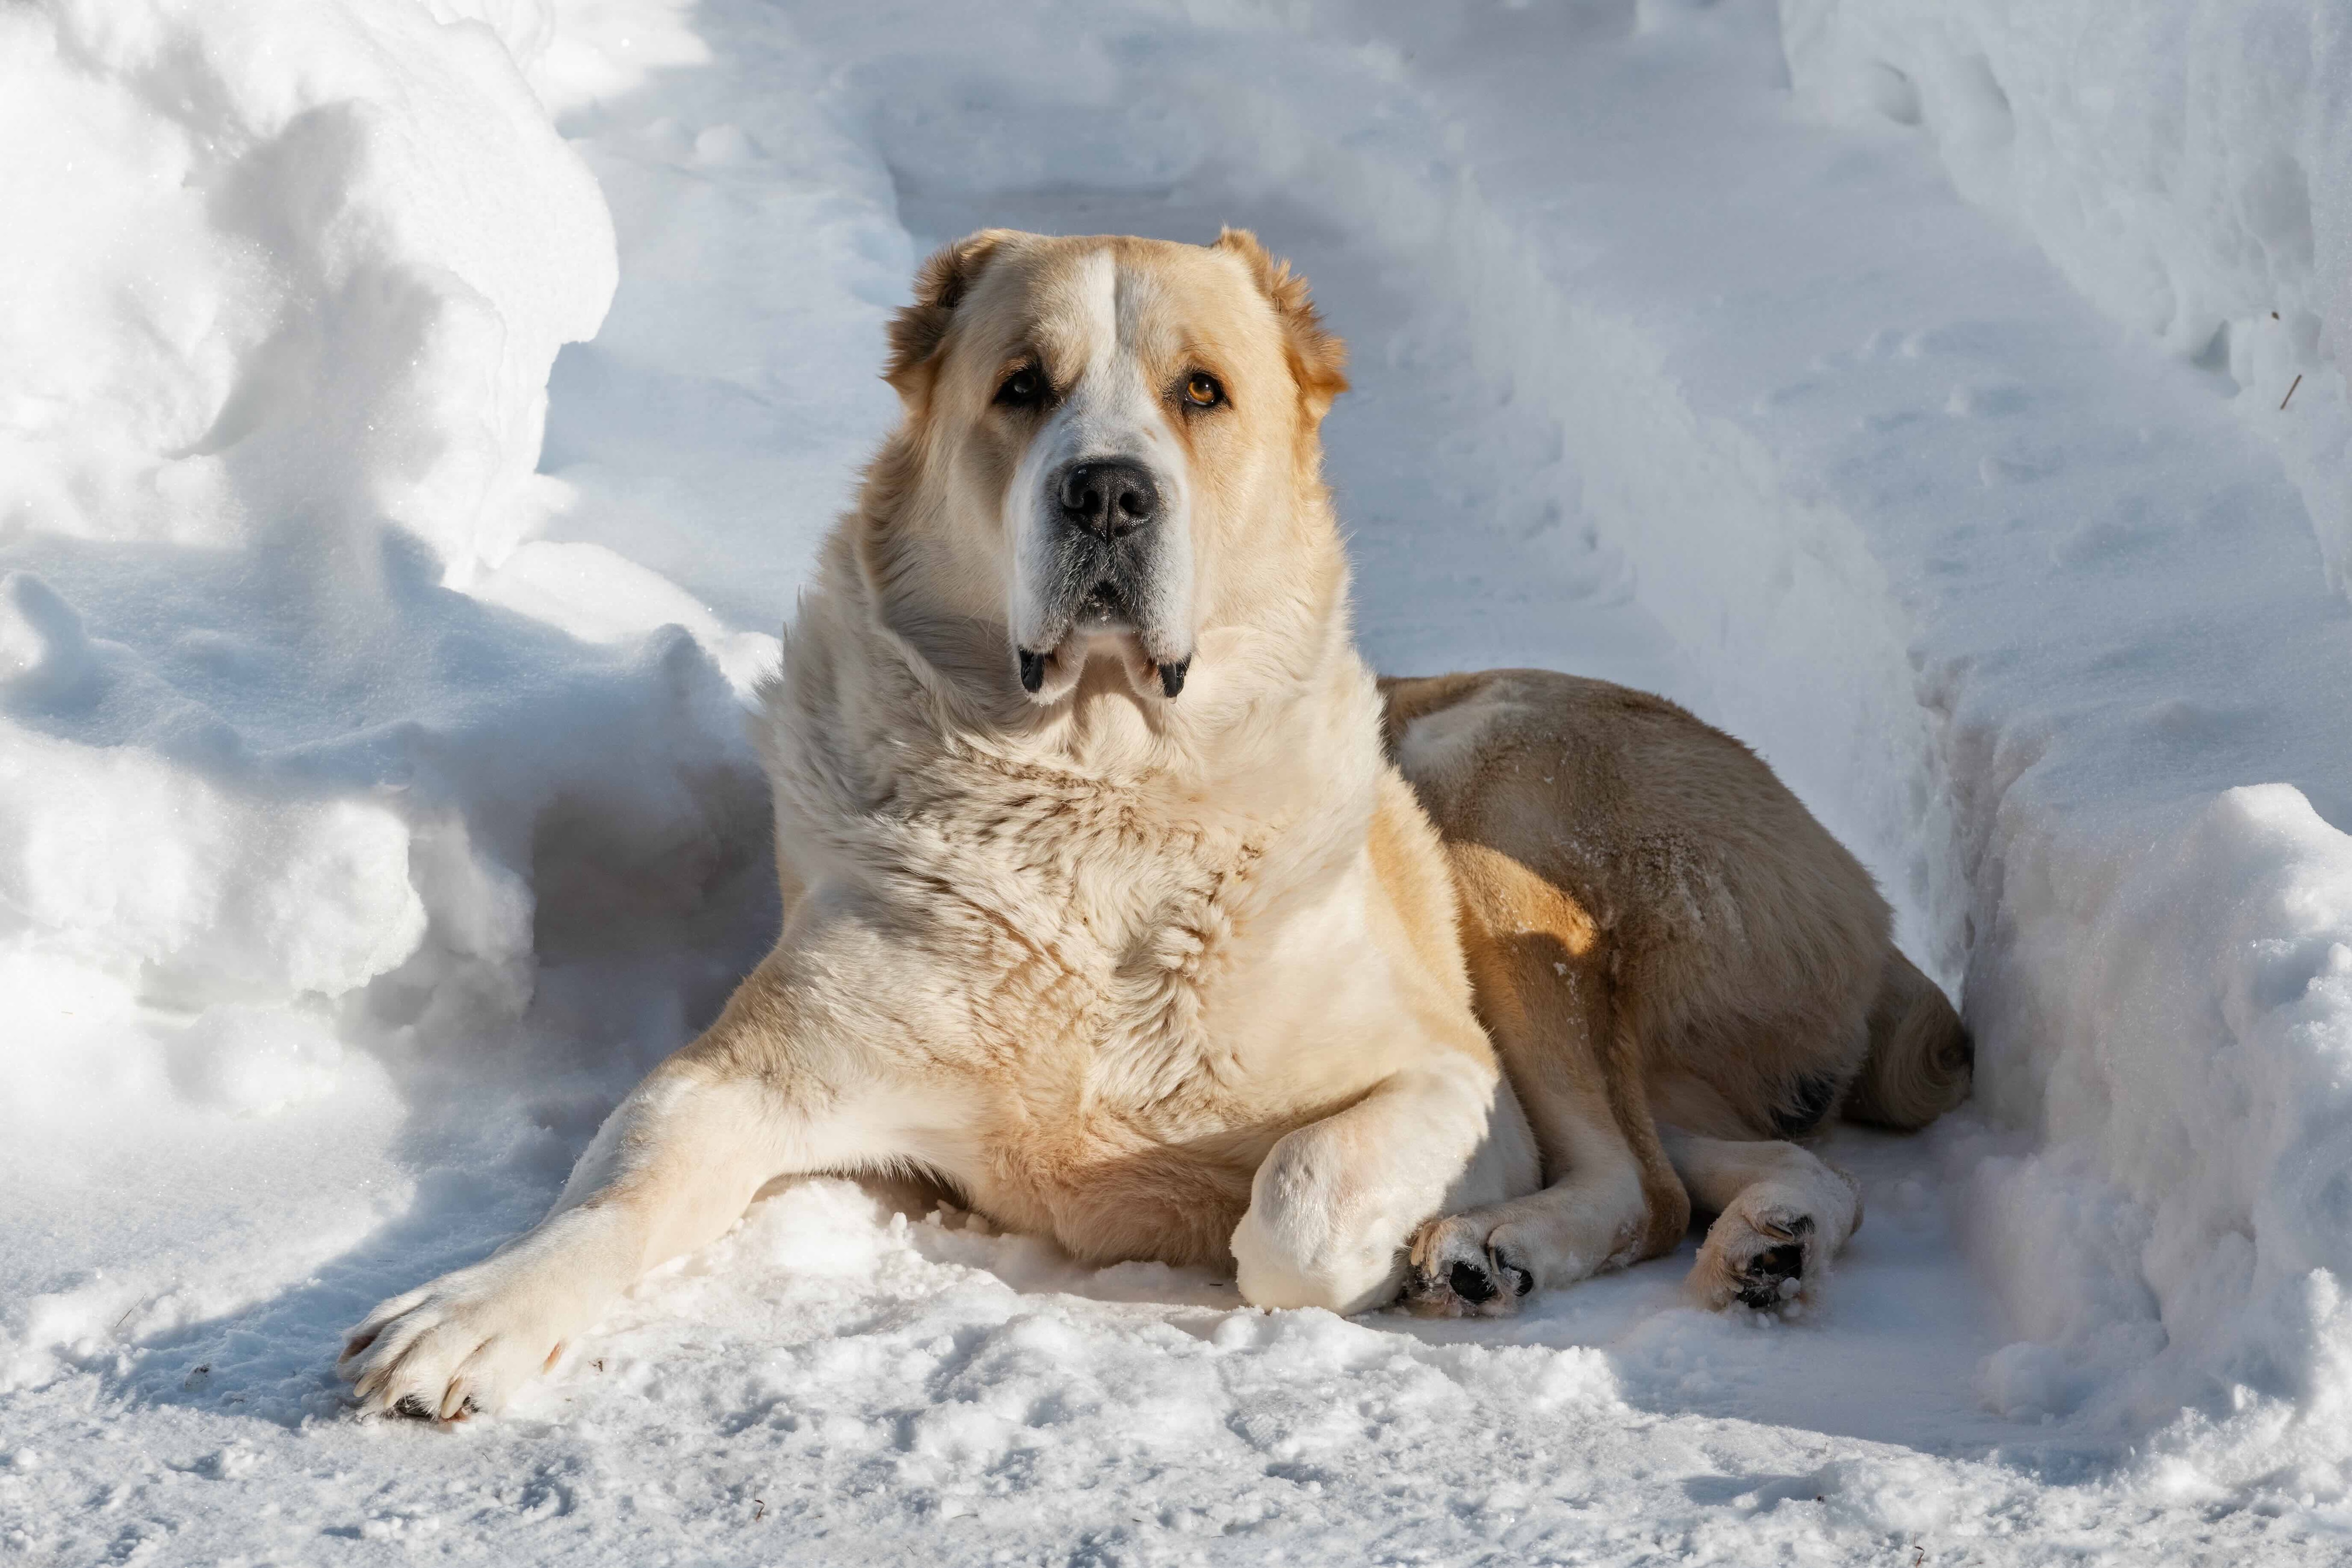
<svg viewBox="0 0 2352 1568">
<path fill-rule="evenodd" d="M 642 61 L 555 49 L 548 7 L 437 9 L 0 14 L 0 1180 L 87 1232 L 12 1258 L 12 1328 L 120 1241 L 99 1171 L 165 1185 L 339 1095 L 381 1124 L 386 1072 L 513 1034 L 569 940 L 539 860 L 626 891 L 661 952 L 757 858 L 713 654 L 762 639 L 586 548 L 499 576 L 562 501 L 555 350 L 614 289 L 522 66 L 581 96 Z M 191 1246 L 134 1248 L 87 1312 Z"/>
</svg>

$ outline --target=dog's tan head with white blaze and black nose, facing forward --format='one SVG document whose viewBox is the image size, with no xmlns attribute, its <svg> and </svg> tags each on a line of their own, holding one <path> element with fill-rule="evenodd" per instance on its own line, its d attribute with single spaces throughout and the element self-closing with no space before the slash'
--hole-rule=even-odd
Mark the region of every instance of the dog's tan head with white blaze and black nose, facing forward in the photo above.
<svg viewBox="0 0 2352 1568">
<path fill-rule="evenodd" d="M 983 230 L 891 322 L 906 423 L 863 503 L 887 621 L 1051 705 L 1174 701 L 1204 632 L 1336 597 L 1317 428 L 1345 350 L 1258 242 Z"/>
</svg>

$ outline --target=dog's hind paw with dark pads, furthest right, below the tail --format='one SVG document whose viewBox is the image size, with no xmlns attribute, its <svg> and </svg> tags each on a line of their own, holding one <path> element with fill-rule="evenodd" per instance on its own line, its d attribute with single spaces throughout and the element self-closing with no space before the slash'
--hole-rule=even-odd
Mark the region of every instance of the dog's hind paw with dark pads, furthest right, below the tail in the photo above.
<svg viewBox="0 0 2352 1568">
<path fill-rule="evenodd" d="M 1828 1260 L 1863 1225 L 1851 1175 L 1795 1143 L 1698 1138 L 1661 1128 L 1668 1159 L 1715 1225 L 1691 1267 L 1708 1307 L 1778 1307 L 1820 1288 Z"/>
</svg>

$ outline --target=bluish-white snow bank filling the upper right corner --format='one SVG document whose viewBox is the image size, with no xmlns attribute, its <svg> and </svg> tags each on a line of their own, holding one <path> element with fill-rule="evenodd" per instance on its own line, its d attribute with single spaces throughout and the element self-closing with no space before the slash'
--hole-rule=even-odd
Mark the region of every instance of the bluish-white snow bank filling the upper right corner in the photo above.
<svg viewBox="0 0 2352 1568">
<path fill-rule="evenodd" d="M 2077 289 L 2209 369 L 2281 447 L 2352 590 L 2352 14 L 1780 0 L 1780 19 L 1818 108 L 1922 127 Z"/>
</svg>

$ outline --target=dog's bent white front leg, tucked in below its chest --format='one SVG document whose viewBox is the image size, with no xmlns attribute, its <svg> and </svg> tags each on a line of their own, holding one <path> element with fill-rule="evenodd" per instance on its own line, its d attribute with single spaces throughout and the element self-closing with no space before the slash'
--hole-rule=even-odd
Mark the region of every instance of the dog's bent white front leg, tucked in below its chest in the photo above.
<svg viewBox="0 0 2352 1568">
<path fill-rule="evenodd" d="M 1444 1053 L 1284 1135 L 1232 1232 L 1254 1307 L 1369 1312 L 1397 1295 L 1414 1227 L 1536 1185 L 1536 1143 L 1491 1060 Z"/>
</svg>

